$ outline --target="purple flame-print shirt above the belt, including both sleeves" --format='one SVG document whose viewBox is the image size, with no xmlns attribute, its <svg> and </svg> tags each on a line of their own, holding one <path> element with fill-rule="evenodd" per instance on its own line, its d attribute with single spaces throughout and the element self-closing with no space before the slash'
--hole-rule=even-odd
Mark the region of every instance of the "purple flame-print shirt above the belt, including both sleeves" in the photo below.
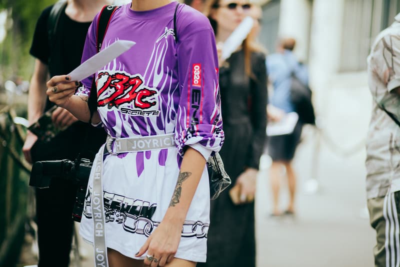
<svg viewBox="0 0 400 267">
<path fill-rule="evenodd" d="M 178 153 L 189 145 L 205 158 L 223 142 L 218 59 L 204 16 L 176 3 L 135 12 L 130 4 L 112 16 L 102 49 L 116 40 L 136 44 L 96 73 L 98 113 L 116 138 L 175 134 Z M 96 53 L 98 15 L 90 26 L 82 62 Z M 88 96 L 92 77 L 77 94 Z"/>
</svg>

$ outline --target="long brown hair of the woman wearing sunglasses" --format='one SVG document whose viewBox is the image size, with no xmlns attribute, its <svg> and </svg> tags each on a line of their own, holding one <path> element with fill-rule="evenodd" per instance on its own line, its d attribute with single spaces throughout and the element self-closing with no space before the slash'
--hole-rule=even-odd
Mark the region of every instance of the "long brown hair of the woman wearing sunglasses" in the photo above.
<svg viewBox="0 0 400 267">
<path fill-rule="evenodd" d="M 217 35 L 218 23 L 211 18 L 211 11 L 217 9 L 220 0 L 207 0 L 204 7 L 204 15 L 207 16 L 212 29 L 214 30 L 214 35 Z M 255 40 L 250 40 L 248 37 L 244 39 L 242 43 L 242 49 L 244 52 L 244 72 L 251 78 L 255 78 L 251 71 L 251 53 L 252 52 L 264 52 L 261 46 L 255 43 Z"/>
</svg>

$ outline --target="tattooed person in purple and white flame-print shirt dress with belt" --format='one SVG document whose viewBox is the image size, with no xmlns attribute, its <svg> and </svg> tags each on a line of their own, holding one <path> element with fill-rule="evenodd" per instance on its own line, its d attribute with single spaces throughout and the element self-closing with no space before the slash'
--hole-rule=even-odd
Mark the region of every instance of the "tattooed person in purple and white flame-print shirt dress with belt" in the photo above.
<svg viewBox="0 0 400 267">
<path fill-rule="evenodd" d="M 98 15 L 82 61 L 96 54 L 97 25 Z M 101 50 L 117 40 L 136 44 L 95 73 L 96 88 L 93 77 L 82 87 L 65 75 L 47 82 L 50 100 L 86 122 L 87 100 L 97 93 L 91 123 L 102 124 L 110 141 L 93 163 L 80 234 L 97 247 L 103 200 L 109 266 L 194 267 L 206 257 L 205 162 L 223 142 L 212 28 L 175 1 L 132 0 L 112 15 Z M 96 260 L 104 259 L 101 252 Z"/>
</svg>

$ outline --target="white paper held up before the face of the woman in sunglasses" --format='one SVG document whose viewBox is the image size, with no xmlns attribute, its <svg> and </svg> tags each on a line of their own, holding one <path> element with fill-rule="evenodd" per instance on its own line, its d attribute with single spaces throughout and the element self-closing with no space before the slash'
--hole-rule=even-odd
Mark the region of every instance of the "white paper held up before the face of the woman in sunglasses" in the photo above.
<svg viewBox="0 0 400 267">
<path fill-rule="evenodd" d="M 250 33 L 253 27 L 254 21 L 251 17 L 245 17 L 241 23 L 234 29 L 229 35 L 222 47 L 222 60 L 226 60 L 230 55 L 237 50 L 237 48 L 243 43 L 247 35 Z"/>
</svg>

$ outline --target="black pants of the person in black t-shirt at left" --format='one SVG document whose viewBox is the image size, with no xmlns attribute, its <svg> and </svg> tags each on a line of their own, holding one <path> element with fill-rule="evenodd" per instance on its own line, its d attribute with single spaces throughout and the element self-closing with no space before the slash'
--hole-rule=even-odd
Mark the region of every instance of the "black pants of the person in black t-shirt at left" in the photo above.
<svg viewBox="0 0 400 267">
<path fill-rule="evenodd" d="M 37 141 L 31 149 L 33 162 L 73 160 L 79 152 L 93 160 L 98 148 L 105 142 L 105 132 L 92 128 L 86 140 L 86 131 L 87 124 L 75 123 L 48 143 Z M 59 176 L 51 179 L 49 188 L 36 189 L 38 267 L 68 267 L 76 190 L 76 185 Z"/>
</svg>

